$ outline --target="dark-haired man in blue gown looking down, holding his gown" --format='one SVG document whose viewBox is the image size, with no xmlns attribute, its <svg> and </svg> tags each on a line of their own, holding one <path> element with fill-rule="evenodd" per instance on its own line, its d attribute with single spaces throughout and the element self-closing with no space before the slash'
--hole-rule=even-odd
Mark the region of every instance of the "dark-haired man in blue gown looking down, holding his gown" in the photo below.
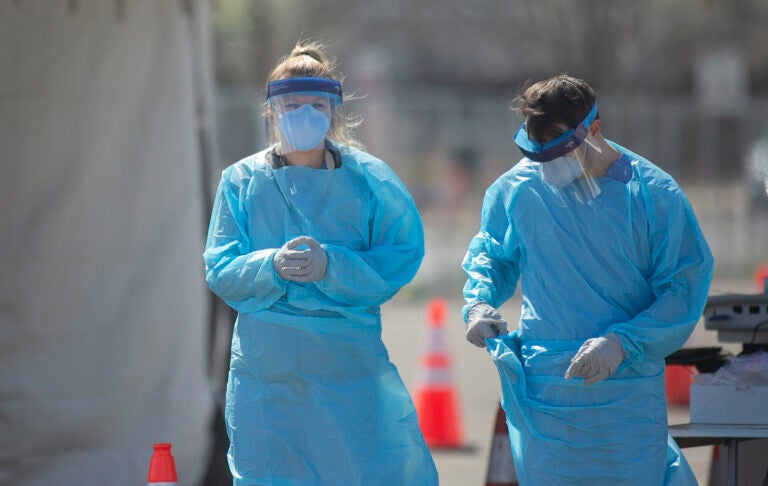
<svg viewBox="0 0 768 486">
<path fill-rule="evenodd" d="M 486 191 L 462 267 L 467 339 L 490 353 L 527 485 L 695 485 L 669 437 L 664 358 L 703 309 L 712 256 L 683 191 L 606 141 L 567 75 L 518 97 L 525 156 Z M 520 283 L 517 329 L 498 308 Z"/>
</svg>

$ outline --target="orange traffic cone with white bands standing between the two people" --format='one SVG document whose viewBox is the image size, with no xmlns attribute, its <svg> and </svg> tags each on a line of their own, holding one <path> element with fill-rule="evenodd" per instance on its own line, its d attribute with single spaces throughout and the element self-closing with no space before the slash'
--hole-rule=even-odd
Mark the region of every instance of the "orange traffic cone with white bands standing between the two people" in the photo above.
<svg viewBox="0 0 768 486">
<path fill-rule="evenodd" d="M 414 398 L 419 428 L 430 447 L 461 447 L 462 430 L 457 397 L 451 382 L 450 357 L 443 337 L 445 300 L 432 299 L 427 306 L 427 314 L 427 353 L 421 359 L 422 374 Z"/>
</svg>

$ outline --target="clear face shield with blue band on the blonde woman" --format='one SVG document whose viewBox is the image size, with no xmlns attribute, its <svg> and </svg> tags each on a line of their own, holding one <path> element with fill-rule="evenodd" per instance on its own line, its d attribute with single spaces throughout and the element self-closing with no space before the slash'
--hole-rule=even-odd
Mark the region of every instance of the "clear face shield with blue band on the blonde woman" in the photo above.
<svg viewBox="0 0 768 486">
<path fill-rule="evenodd" d="M 267 86 L 267 138 L 280 153 L 312 150 L 339 140 L 346 117 L 341 83 L 327 78 L 289 78 Z"/>
</svg>

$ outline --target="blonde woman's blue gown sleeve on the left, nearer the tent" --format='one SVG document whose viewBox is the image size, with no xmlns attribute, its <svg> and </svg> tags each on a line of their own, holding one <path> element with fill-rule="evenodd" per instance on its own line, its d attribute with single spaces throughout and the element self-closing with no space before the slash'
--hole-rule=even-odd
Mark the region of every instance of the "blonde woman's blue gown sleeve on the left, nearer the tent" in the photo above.
<svg viewBox="0 0 768 486">
<path fill-rule="evenodd" d="M 251 251 L 245 191 L 233 168 L 225 169 L 216 192 L 203 260 L 211 290 L 238 312 L 255 312 L 274 304 L 286 282 L 272 266 L 277 248 Z"/>
</svg>

